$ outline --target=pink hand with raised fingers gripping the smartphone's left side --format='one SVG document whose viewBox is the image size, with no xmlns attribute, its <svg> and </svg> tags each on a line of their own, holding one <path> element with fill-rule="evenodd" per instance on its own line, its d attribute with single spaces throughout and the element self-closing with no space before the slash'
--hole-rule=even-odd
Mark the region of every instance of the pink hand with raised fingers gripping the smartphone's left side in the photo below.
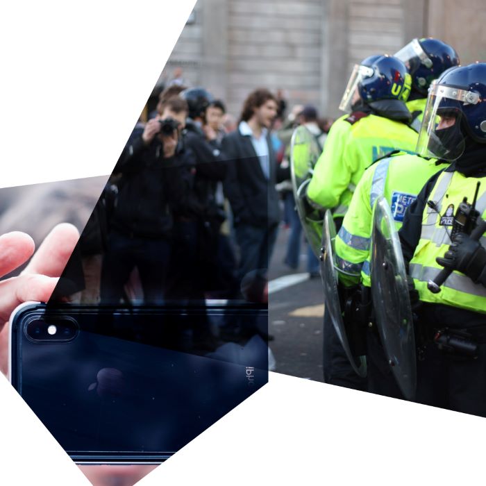
<svg viewBox="0 0 486 486">
<path fill-rule="evenodd" d="M 0 370 L 7 371 L 8 319 L 26 301 L 47 302 L 79 239 L 72 224 L 58 224 L 33 256 L 22 274 L 0 282 Z M 14 231 L 0 236 L 0 277 L 23 265 L 35 244 L 26 233 Z"/>
</svg>

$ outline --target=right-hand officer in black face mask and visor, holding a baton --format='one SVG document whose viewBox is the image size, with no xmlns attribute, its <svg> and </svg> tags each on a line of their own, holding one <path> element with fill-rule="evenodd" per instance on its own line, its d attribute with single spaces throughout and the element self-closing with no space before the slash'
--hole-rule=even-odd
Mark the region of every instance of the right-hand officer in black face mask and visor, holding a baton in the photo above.
<svg viewBox="0 0 486 486">
<path fill-rule="evenodd" d="M 450 69 L 433 85 L 417 151 L 453 162 L 426 183 L 399 232 L 422 303 L 417 401 L 482 416 L 486 250 L 470 233 L 486 217 L 485 102 L 486 63 Z M 437 289 L 429 280 L 443 267 L 452 272 Z"/>
</svg>

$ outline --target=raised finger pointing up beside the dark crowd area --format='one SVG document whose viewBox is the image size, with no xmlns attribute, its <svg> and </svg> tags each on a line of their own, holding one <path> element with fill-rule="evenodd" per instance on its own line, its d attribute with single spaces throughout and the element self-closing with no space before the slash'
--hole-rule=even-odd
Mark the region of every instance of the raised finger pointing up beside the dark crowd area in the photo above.
<svg viewBox="0 0 486 486">
<path fill-rule="evenodd" d="M 58 277 L 79 240 L 79 232 L 72 224 L 58 224 L 35 252 L 23 274 L 42 274 Z"/>
</svg>

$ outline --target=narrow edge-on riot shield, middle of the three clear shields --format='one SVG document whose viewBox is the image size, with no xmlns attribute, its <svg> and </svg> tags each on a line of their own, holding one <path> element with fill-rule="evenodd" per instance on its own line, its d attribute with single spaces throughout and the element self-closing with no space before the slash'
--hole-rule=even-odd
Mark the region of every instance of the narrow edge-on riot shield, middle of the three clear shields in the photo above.
<svg viewBox="0 0 486 486">
<path fill-rule="evenodd" d="M 344 324 L 344 319 L 341 310 L 340 295 L 337 291 L 337 270 L 335 265 L 335 251 L 334 242 L 336 238 L 336 226 L 334 224 L 333 215 L 330 210 L 326 211 L 324 215 L 324 227 L 322 231 L 322 246 L 321 255 L 321 277 L 324 285 L 324 301 L 326 304 L 326 312 L 329 312 L 330 319 L 336 330 L 346 357 L 349 359 L 354 371 L 364 378 L 367 374 L 367 364 L 364 355 L 357 356 L 350 346 L 349 334 Z"/>
</svg>

